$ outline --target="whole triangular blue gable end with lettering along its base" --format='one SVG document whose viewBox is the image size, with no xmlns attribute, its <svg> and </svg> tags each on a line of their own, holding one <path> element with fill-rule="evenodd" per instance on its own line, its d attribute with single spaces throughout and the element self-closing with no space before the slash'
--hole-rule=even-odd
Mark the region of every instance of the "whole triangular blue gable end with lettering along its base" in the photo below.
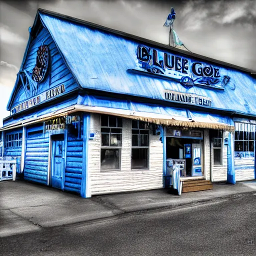
<svg viewBox="0 0 256 256">
<path fill-rule="evenodd" d="M 15 106 L 19 106 L 23 103 L 25 105 L 30 103 L 29 108 L 33 107 L 31 102 L 33 102 L 33 99 L 35 99 L 36 96 L 40 97 L 40 100 L 36 103 L 36 105 L 51 100 L 51 97 L 45 98 L 46 91 L 56 88 L 61 84 L 64 84 L 65 87 L 64 92 L 61 92 L 61 94 L 69 93 L 73 89 L 78 88 L 78 84 L 76 83 L 73 75 L 70 73 L 61 52 L 58 50 L 50 33 L 45 27 L 42 26 L 40 19 L 37 18 L 38 15 L 39 14 L 37 13 L 33 25 L 33 32 L 31 27 L 28 29 L 29 39 L 19 72 L 17 73 L 14 87 L 11 92 L 11 96 L 7 104 L 7 110 L 12 109 L 12 113 L 15 113 Z M 37 82 L 32 78 L 32 75 L 33 70 L 37 65 L 38 50 L 42 52 L 42 45 L 46 46 L 47 53 L 45 55 L 48 56 L 46 60 L 46 63 L 48 64 L 46 71 L 44 71 L 45 76 L 42 80 Z M 54 97 L 58 96 L 60 95 L 54 95 Z M 25 109 L 26 108 L 27 107 L 25 107 Z"/>
</svg>

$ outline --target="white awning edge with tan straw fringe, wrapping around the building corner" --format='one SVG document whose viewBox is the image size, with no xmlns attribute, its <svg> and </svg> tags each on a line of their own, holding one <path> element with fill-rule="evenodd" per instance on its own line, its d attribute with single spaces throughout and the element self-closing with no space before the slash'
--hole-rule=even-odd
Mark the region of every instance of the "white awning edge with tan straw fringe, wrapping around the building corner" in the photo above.
<svg viewBox="0 0 256 256">
<path fill-rule="evenodd" d="M 228 125 L 225 123 L 214 122 L 210 119 L 205 119 L 204 122 L 193 120 L 187 117 L 180 116 L 169 116 L 165 114 L 158 113 L 149 113 L 149 112 L 140 112 L 140 111 L 132 111 L 127 109 L 118 109 L 118 108 L 110 108 L 110 107 L 99 107 L 99 106 L 87 106 L 87 105 L 72 105 L 69 107 L 65 107 L 63 109 L 44 114 L 39 117 L 32 117 L 25 120 L 18 121 L 16 123 L 6 125 L 1 130 L 9 130 L 14 129 L 42 121 L 46 121 L 59 116 L 67 116 L 77 111 L 82 112 L 91 112 L 91 113 L 101 113 L 101 114 L 110 114 L 115 116 L 120 116 L 129 119 L 141 120 L 145 122 L 155 123 L 158 125 L 165 126 L 176 126 L 181 129 L 191 129 L 191 128 L 204 128 L 204 129 L 221 129 L 226 131 L 233 131 L 234 126 Z"/>
</svg>

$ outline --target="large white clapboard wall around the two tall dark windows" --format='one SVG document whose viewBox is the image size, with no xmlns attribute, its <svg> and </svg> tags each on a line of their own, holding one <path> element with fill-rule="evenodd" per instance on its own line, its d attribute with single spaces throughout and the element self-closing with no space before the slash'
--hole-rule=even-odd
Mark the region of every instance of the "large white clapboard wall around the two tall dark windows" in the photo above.
<svg viewBox="0 0 256 256">
<path fill-rule="evenodd" d="M 88 184 L 91 194 L 162 188 L 163 145 L 159 135 L 149 136 L 149 169 L 131 170 L 131 121 L 123 119 L 121 169 L 100 171 L 100 116 L 91 114 L 88 142 Z"/>
</svg>

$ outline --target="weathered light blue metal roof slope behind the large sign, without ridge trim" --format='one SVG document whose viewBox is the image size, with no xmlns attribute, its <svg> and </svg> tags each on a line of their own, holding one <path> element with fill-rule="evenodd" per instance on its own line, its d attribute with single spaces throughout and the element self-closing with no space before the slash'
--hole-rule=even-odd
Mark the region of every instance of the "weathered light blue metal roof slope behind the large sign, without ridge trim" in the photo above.
<svg viewBox="0 0 256 256">
<path fill-rule="evenodd" d="M 165 101 L 166 90 L 191 93 L 209 98 L 211 108 L 256 115 L 256 79 L 249 73 L 218 66 L 219 73 L 230 78 L 221 90 L 199 86 L 188 88 L 177 79 L 128 72 L 129 69 L 141 70 L 137 58 L 138 42 L 49 14 L 39 14 L 70 71 L 83 88 Z M 155 49 L 162 52 L 157 47 Z M 198 61 L 187 58 L 191 63 Z"/>
</svg>

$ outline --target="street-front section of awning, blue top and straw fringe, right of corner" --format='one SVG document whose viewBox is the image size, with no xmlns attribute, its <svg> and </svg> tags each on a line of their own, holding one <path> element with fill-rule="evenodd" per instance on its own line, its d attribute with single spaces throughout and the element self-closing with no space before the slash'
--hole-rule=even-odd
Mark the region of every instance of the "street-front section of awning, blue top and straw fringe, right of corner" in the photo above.
<svg viewBox="0 0 256 256">
<path fill-rule="evenodd" d="M 82 107 L 91 111 L 118 115 L 156 124 L 180 126 L 184 128 L 209 128 L 234 130 L 234 122 L 228 116 L 207 112 L 192 111 L 130 100 L 109 99 L 86 95 L 81 99 Z"/>
</svg>

